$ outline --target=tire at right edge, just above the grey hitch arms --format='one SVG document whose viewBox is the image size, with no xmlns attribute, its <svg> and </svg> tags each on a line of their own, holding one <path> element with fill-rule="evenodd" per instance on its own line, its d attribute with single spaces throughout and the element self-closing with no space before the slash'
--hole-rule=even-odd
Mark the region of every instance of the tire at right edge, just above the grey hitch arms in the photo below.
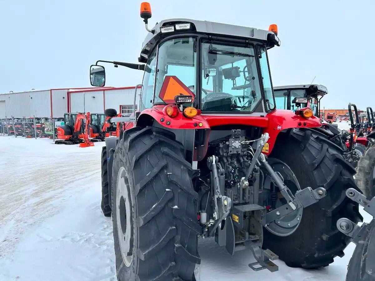
<svg viewBox="0 0 375 281">
<path fill-rule="evenodd" d="M 356 182 L 366 197 L 375 196 L 375 145 L 370 146 L 357 165 Z"/>
</svg>

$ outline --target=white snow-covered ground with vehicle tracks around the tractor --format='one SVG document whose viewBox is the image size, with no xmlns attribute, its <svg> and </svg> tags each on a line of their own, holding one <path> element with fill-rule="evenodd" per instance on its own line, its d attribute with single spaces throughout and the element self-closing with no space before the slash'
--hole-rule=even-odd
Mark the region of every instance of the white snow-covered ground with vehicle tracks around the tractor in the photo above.
<svg viewBox="0 0 375 281">
<path fill-rule="evenodd" d="M 347 123 L 339 128 L 347 129 Z M 0 136 L 0 280 L 115 280 L 111 218 L 100 209 L 100 152 L 49 139 Z M 363 214 L 365 221 L 371 217 Z M 212 239 L 199 241 L 198 280 L 345 280 L 354 250 L 313 271 L 254 272 L 251 251 L 230 256 Z"/>
</svg>

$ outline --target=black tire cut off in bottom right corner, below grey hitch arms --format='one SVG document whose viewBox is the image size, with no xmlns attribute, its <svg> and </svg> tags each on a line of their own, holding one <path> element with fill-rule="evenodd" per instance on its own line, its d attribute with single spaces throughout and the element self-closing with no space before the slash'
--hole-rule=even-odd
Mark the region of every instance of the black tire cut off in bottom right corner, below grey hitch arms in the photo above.
<svg viewBox="0 0 375 281">
<path fill-rule="evenodd" d="M 348 265 L 347 281 L 374 281 L 375 219 L 368 227 L 365 243 L 358 244 Z M 371 268 L 371 269 L 369 269 Z"/>
</svg>

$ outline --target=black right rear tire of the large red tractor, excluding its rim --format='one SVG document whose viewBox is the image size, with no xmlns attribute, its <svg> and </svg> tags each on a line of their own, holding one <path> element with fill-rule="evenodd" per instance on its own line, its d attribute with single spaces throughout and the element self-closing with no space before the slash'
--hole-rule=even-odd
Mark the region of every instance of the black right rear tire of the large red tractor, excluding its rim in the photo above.
<svg viewBox="0 0 375 281">
<path fill-rule="evenodd" d="M 318 268 L 332 263 L 335 256 L 344 256 L 350 240 L 337 229 L 336 222 L 342 217 L 356 223 L 362 220 L 358 204 L 345 196 L 348 188 L 357 187 L 355 170 L 342 158 L 342 152 L 323 134 L 308 129 L 291 129 L 277 139 L 270 157 L 286 163 L 301 188 L 327 190 L 326 197 L 303 209 L 299 226 L 290 235 L 279 236 L 264 228 L 263 247 L 288 266 Z"/>
</svg>

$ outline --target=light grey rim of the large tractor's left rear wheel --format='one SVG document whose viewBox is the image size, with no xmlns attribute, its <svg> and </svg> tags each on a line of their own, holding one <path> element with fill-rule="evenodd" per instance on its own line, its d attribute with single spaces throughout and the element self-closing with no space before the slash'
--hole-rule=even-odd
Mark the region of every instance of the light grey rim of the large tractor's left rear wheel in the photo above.
<svg viewBox="0 0 375 281">
<path fill-rule="evenodd" d="M 120 168 L 117 177 L 116 221 L 120 251 L 126 266 L 133 259 L 133 221 L 131 214 L 130 186 L 124 167 Z"/>
</svg>

